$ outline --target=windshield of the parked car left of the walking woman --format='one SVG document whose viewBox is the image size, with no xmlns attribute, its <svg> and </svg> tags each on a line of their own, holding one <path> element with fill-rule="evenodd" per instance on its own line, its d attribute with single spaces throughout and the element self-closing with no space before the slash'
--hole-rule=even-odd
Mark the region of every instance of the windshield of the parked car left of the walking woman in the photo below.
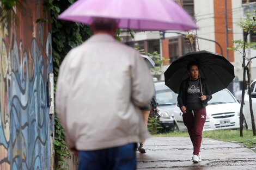
<svg viewBox="0 0 256 170">
<path fill-rule="evenodd" d="M 169 89 L 156 91 L 156 102 L 159 103 L 159 105 L 175 105 L 177 97 L 178 94 Z"/>
</svg>

